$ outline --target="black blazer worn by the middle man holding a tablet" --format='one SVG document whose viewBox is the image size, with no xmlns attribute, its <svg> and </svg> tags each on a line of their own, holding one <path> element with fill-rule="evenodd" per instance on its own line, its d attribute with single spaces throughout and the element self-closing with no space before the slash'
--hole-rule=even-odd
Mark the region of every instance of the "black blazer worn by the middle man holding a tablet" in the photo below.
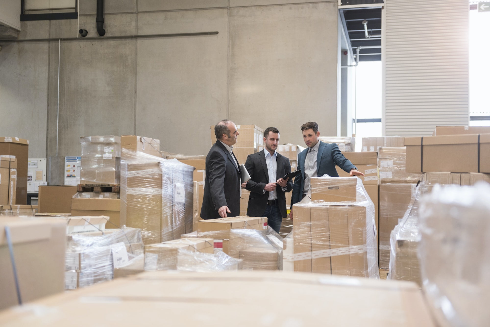
<svg viewBox="0 0 490 327">
<path fill-rule="evenodd" d="M 278 180 L 291 172 L 291 164 L 288 158 L 277 152 L 276 154 L 277 173 L 275 180 Z M 245 189 L 250 191 L 246 214 L 251 217 L 262 217 L 267 207 L 267 200 L 269 199 L 269 192 L 266 191 L 264 193 L 264 187 L 269 183 L 269 170 L 267 169 L 264 151 L 249 154 L 246 158 L 245 168 L 248 174 L 250 174 L 250 180 L 245 187 Z M 293 181 L 289 180 L 286 186 L 286 192 L 291 192 L 292 189 Z M 287 216 L 286 195 L 280 186 L 276 187 L 276 191 L 279 209 L 281 210 L 282 217 L 285 218 Z"/>
</svg>

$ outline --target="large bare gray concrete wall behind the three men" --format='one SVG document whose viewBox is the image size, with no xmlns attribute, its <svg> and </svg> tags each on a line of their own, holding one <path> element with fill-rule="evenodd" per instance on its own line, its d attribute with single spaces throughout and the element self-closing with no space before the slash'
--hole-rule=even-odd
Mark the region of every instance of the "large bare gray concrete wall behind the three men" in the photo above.
<svg viewBox="0 0 490 327">
<path fill-rule="evenodd" d="M 281 142 L 301 144 L 308 120 L 337 134 L 336 0 L 105 2 L 105 37 L 219 34 L 58 41 L 97 36 L 96 0 L 79 1 L 78 21 L 22 22 L 20 39 L 52 39 L 0 43 L 0 134 L 29 139 L 30 157 L 79 155 L 80 136 L 109 134 L 206 154 L 223 118 L 276 126 Z"/>
</svg>

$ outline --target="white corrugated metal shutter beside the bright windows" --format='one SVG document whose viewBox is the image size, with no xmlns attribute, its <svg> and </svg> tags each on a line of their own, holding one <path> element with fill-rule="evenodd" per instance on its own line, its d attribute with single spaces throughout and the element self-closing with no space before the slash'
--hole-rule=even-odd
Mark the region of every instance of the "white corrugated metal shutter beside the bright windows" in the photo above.
<svg viewBox="0 0 490 327">
<path fill-rule="evenodd" d="M 386 0 L 385 10 L 385 135 L 468 125 L 468 0 Z"/>
</svg>

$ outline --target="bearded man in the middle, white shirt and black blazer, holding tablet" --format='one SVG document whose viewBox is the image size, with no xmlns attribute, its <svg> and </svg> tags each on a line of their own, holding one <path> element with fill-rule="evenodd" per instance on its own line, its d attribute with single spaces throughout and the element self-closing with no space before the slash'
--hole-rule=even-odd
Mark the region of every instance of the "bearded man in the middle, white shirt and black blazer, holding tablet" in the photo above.
<svg viewBox="0 0 490 327">
<path fill-rule="evenodd" d="M 245 168 L 250 174 L 246 189 L 250 191 L 247 215 L 267 217 L 269 226 L 279 233 L 282 218 L 287 217 L 286 195 L 293 182 L 283 180 L 291 172 L 289 159 L 276 152 L 279 130 L 268 127 L 264 131 L 264 150 L 248 155 Z"/>
</svg>

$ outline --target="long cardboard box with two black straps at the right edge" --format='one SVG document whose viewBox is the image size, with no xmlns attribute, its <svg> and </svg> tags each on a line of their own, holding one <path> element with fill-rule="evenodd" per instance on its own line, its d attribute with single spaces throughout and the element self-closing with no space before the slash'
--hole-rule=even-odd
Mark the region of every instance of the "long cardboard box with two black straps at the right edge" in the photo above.
<svg viewBox="0 0 490 327">
<path fill-rule="evenodd" d="M 405 138 L 408 172 L 490 172 L 490 134 Z"/>
</svg>

